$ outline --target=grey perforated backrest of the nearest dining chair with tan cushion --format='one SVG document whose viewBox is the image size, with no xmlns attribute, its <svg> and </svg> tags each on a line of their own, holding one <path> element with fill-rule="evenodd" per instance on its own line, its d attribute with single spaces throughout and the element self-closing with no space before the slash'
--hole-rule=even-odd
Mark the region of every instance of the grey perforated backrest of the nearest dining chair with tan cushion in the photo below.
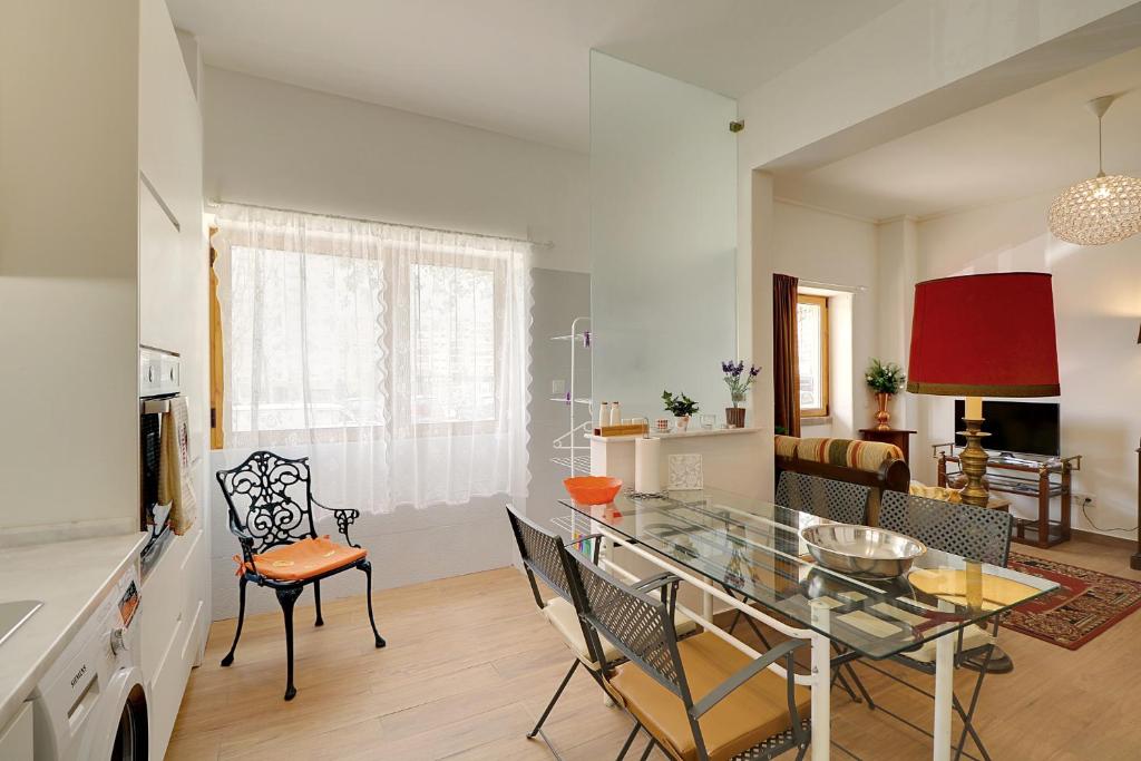
<svg viewBox="0 0 1141 761">
<path fill-rule="evenodd" d="M 669 606 L 656 594 L 626 586 L 577 552 L 564 558 L 572 586 L 582 590 L 582 617 L 631 663 L 680 697 L 687 710 L 693 707 Z"/>
</svg>

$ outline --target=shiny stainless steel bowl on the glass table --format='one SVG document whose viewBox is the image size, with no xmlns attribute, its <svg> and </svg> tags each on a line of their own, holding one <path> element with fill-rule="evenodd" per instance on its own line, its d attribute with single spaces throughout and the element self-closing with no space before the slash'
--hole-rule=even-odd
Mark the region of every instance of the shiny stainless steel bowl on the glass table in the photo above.
<svg viewBox="0 0 1141 761">
<path fill-rule="evenodd" d="M 820 524 L 800 535 L 817 562 L 856 578 L 896 578 L 926 552 L 919 540 L 869 526 Z"/>
</svg>

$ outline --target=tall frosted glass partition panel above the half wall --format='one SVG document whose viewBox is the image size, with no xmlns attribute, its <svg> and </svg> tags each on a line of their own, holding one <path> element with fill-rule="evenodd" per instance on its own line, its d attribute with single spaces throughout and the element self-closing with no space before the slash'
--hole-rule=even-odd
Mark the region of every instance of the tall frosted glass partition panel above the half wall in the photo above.
<svg viewBox="0 0 1141 761">
<path fill-rule="evenodd" d="M 667 389 L 725 422 L 720 362 L 737 343 L 737 104 L 597 51 L 590 78 L 593 398 L 653 420 L 669 416 Z"/>
</svg>

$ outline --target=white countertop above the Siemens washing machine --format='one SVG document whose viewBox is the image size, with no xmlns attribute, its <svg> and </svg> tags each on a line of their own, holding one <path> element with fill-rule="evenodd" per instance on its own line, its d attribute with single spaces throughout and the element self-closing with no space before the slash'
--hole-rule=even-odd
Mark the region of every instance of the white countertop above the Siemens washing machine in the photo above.
<svg viewBox="0 0 1141 761">
<path fill-rule="evenodd" d="M 139 532 L 3 550 L 0 600 L 43 605 L 0 643 L 0 729 L 31 697 L 145 541 Z"/>
</svg>

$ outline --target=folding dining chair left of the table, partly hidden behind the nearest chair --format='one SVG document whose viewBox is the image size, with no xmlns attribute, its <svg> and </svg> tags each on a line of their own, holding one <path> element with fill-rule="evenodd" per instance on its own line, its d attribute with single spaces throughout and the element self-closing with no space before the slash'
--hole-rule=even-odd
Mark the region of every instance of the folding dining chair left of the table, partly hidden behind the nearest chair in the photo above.
<svg viewBox="0 0 1141 761">
<path fill-rule="evenodd" d="M 543 713 L 539 717 L 534 729 L 527 734 L 528 738 L 540 735 L 543 742 L 551 748 L 551 752 L 555 753 L 553 746 L 547 735 L 543 734 L 543 723 L 550 715 L 555 704 L 563 696 L 563 690 L 570 682 L 570 677 L 574 675 L 575 670 L 580 664 L 585 666 L 591 678 L 599 686 L 602 686 L 600 664 L 610 663 L 622 656 L 609 640 L 599 640 L 578 617 L 570 582 L 567 578 L 567 564 L 564 557 L 572 550 L 568 550 L 563 539 L 521 515 L 513 505 L 507 505 L 507 517 L 511 523 L 511 533 L 515 535 L 516 544 L 519 548 L 519 557 L 523 560 L 524 570 L 527 573 L 527 581 L 531 583 L 531 592 L 535 598 L 535 605 L 539 606 L 540 613 L 543 614 L 548 623 L 559 633 L 563 641 L 566 642 L 575 656 L 570 663 L 570 669 L 563 678 L 563 681 L 559 682 L 555 695 L 551 696 Z M 578 537 L 569 544 L 570 548 L 581 548 L 586 544 L 586 540 L 596 540 L 592 542 L 592 556 L 597 562 L 598 553 L 601 549 L 599 539 L 600 535 L 592 534 Z M 577 552 L 577 549 L 574 551 Z M 539 588 L 540 581 L 555 592 L 555 597 L 544 599 Z M 674 628 L 679 634 L 687 634 L 693 632 L 697 628 L 697 624 L 679 612 L 674 618 Z M 602 689 L 605 691 L 605 687 Z M 609 696 L 608 691 L 606 694 Z"/>
</svg>

